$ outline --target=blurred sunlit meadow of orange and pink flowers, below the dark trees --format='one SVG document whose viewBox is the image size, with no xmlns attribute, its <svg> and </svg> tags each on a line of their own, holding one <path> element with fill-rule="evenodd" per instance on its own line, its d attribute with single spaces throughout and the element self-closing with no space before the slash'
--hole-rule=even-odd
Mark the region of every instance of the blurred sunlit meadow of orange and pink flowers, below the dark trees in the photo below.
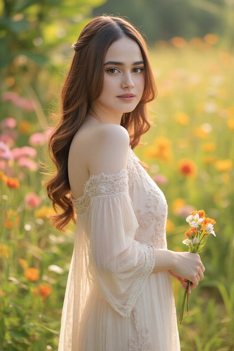
<svg viewBox="0 0 234 351">
<path fill-rule="evenodd" d="M 158 87 L 158 97 L 150 105 L 153 126 L 142 138 L 146 145 L 135 153 L 148 164 L 167 198 L 168 248 L 186 251 L 182 241 L 191 211 L 203 209 L 216 220 L 216 238 L 208 238 L 201 253 L 205 279 L 191 293 L 190 316 L 179 325 L 181 350 L 231 351 L 234 48 L 227 49 L 213 34 L 190 42 L 173 38 L 155 43 L 151 62 Z M 19 84 L 12 72 L 1 87 L 0 350 L 4 351 L 57 349 L 73 250 L 74 226 L 65 233 L 51 227 L 47 215 L 54 210 L 41 184 L 42 164 L 53 170 L 46 143 L 49 115 L 63 76 L 45 67 L 38 79 L 37 93 L 28 77 Z M 183 290 L 177 281 L 173 284 L 179 314 Z"/>
</svg>

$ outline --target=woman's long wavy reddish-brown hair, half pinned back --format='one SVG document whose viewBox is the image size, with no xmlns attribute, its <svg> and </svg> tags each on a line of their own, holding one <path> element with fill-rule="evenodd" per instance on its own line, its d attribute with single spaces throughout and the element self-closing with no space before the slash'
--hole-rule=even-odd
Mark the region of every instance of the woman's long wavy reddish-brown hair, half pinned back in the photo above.
<svg viewBox="0 0 234 351">
<path fill-rule="evenodd" d="M 132 148 L 150 128 L 146 103 L 156 96 L 156 87 L 149 64 L 147 45 L 141 34 L 126 20 L 113 16 L 99 16 L 89 22 L 80 33 L 73 48 L 75 54 L 61 91 L 61 119 L 49 138 L 49 153 L 56 173 L 47 182 L 46 190 L 56 212 L 52 224 L 62 230 L 70 220 L 75 222 L 71 187 L 68 179 L 68 153 L 72 139 L 103 88 L 103 65 L 107 49 L 122 37 L 134 40 L 140 47 L 145 64 L 145 89 L 134 111 L 124 113 L 121 125 L 130 135 Z"/>
</svg>

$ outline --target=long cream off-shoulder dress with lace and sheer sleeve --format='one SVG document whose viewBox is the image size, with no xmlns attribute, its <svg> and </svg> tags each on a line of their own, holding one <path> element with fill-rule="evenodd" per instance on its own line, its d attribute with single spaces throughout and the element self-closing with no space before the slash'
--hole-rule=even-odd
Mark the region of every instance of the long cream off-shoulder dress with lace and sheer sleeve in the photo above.
<svg viewBox="0 0 234 351">
<path fill-rule="evenodd" d="M 171 277 L 152 273 L 166 199 L 131 148 L 127 170 L 91 176 L 74 205 L 59 351 L 180 350 Z"/>
</svg>

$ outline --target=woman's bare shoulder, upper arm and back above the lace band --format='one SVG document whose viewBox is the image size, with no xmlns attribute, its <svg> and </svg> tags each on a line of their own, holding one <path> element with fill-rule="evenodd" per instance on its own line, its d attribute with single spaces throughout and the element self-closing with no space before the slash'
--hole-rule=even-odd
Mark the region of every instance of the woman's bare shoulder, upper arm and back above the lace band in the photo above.
<svg viewBox="0 0 234 351">
<path fill-rule="evenodd" d="M 68 175 L 78 198 L 90 175 L 114 174 L 127 168 L 129 134 L 112 123 L 86 124 L 76 132 L 69 150 Z"/>
</svg>

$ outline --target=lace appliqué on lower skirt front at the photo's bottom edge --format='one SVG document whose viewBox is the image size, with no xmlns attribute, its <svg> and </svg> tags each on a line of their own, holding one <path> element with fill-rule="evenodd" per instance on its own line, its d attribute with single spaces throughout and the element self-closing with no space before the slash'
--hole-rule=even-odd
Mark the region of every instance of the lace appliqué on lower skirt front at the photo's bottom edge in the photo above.
<svg viewBox="0 0 234 351">
<path fill-rule="evenodd" d="M 133 325 L 136 330 L 136 337 L 131 338 L 128 343 L 129 351 L 150 351 L 152 343 L 149 342 L 149 327 L 139 329 L 139 311 L 137 307 L 133 307 Z"/>
</svg>

